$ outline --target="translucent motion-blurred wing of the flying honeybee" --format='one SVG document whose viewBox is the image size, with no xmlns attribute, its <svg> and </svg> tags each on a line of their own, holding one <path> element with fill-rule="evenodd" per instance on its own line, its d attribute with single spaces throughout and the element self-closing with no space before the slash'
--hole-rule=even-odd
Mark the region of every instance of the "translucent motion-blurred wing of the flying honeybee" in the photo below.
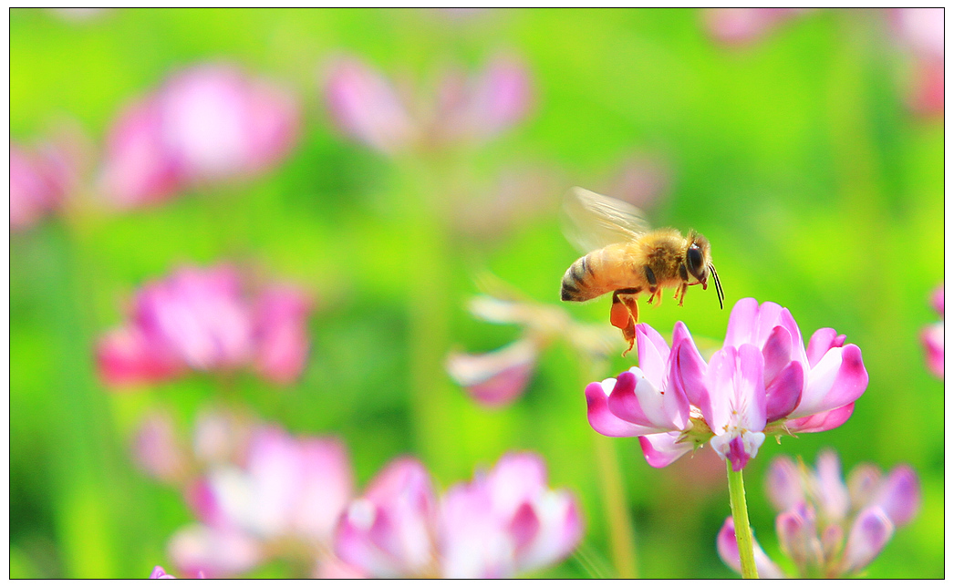
<svg viewBox="0 0 954 587">
<path fill-rule="evenodd" d="M 641 210 L 608 195 L 571 188 L 563 203 L 564 233 L 581 253 L 633 240 L 650 230 Z"/>
</svg>

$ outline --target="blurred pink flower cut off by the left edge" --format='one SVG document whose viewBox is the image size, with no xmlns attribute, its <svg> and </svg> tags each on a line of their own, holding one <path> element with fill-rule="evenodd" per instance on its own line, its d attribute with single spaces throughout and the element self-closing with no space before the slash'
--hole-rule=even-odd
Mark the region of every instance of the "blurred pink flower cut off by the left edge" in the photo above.
<svg viewBox="0 0 954 587">
<path fill-rule="evenodd" d="M 36 148 L 10 141 L 10 231 L 22 232 L 63 207 L 90 158 L 81 132 L 63 129 Z"/>
</svg>

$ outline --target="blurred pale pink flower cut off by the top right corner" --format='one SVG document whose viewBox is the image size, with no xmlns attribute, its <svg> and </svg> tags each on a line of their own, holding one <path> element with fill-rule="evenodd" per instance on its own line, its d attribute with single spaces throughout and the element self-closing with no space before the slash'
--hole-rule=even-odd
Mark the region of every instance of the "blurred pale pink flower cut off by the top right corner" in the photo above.
<svg viewBox="0 0 954 587">
<path fill-rule="evenodd" d="M 911 109 L 944 113 L 944 9 L 891 9 L 889 21 L 911 58 Z"/>
</svg>

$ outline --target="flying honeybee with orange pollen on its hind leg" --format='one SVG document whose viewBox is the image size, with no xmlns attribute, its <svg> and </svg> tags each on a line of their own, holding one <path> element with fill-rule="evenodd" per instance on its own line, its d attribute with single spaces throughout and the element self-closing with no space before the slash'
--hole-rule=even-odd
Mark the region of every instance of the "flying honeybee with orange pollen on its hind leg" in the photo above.
<svg viewBox="0 0 954 587">
<path fill-rule="evenodd" d="M 725 295 L 709 240 L 702 234 L 651 230 L 638 208 L 583 188 L 570 190 L 564 208 L 571 221 L 568 237 L 590 253 L 576 259 L 563 275 L 560 297 L 582 302 L 612 292 L 610 323 L 630 344 L 624 356 L 633 350 L 640 293 L 649 293 L 647 301 L 658 305 L 663 289 L 674 288 L 682 306 L 689 286 L 707 289 L 712 273 L 722 308 Z"/>
</svg>

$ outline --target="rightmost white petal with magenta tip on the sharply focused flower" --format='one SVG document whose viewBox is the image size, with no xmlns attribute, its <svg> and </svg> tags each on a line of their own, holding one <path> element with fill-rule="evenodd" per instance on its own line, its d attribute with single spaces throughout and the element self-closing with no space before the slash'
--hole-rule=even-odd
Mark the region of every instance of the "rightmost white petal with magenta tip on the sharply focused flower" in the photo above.
<svg viewBox="0 0 954 587">
<path fill-rule="evenodd" d="M 790 417 L 840 408 L 861 397 L 867 386 L 868 372 L 861 360 L 861 349 L 853 344 L 829 349 L 808 373 L 801 401 Z"/>
</svg>

